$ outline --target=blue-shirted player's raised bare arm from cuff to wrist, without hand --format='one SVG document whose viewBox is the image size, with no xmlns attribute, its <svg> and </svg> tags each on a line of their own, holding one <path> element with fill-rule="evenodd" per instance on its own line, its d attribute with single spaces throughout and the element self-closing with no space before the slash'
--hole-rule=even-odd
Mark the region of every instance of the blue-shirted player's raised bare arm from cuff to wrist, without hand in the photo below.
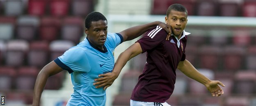
<svg viewBox="0 0 256 106">
<path fill-rule="evenodd" d="M 125 41 L 133 40 L 139 37 L 140 35 L 142 35 L 143 33 L 145 33 L 146 31 L 148 31 L 149 29 L 151 29 L 152 27 L 159 25 L 160 23 L 161 23 L 160 21 L 155 21 L 148 24 L 142 24 L 135 27 L 130 27 L 123 31 L 123 33 L 127 37 L 126 39 L 124 38 L 124 40 Z"/>
</svg>

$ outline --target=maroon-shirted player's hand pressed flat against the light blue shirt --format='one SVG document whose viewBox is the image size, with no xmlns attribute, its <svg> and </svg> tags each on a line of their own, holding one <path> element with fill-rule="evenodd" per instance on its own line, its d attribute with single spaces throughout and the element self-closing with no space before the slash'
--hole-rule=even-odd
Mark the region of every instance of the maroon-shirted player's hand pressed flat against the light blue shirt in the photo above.
<svg viewBox="0 0 256 106">
<path fill-rule="evenodd" d="M 111 86 L 115 79 L 117 79 L 118 75 L 116 73 L 105 73 L 98 75 L 97 79 L 94 79 L 94 85 L 96 85 L 96 88 L 104 87 L 103 89 L 106 90 L 107 87 Z"/>
</svg>

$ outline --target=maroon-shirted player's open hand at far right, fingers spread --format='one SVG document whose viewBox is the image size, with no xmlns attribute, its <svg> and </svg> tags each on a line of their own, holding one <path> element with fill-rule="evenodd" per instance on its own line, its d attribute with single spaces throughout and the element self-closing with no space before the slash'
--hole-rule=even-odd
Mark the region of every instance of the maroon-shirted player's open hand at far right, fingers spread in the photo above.
<svg viewBox="0 0 256 106">
<path fill-rule="evenodd" d="M 214 96 L 218 97 L 218 96 L 224 94 L 224 91 L 222 90 L 222 88 L 219 85 L 225 87 L 225 85 L 219 81 L 211 81 L 208 84 L 206 84 L 206 88 L 208 89 L 208 91 L 210 91 L 210 93 L 212 94 L 213 97 Z"/>
</svg>

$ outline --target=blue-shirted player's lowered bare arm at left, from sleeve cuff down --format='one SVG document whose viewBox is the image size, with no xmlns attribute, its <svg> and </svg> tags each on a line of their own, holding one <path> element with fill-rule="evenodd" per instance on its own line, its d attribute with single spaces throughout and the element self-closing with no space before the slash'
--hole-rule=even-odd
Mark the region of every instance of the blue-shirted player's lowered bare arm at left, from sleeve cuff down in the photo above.
<svg viewBox="0 0 256 106">
<path fill-rule="evenodd" d="M 37 79 L 34 86 L 33 104 L 32 106 L 39 106 L 43 89 L 46 85 L 48 77 L 61 72 L 60 68 L 54 61 L 50 62 L 37 75 Z"/>
</svg>

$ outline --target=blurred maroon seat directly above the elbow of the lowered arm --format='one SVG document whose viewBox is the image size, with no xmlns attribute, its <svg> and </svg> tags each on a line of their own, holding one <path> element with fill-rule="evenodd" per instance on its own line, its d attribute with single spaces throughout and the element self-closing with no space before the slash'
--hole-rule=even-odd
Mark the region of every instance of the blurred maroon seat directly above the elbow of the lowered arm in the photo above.
<svg viewBox="0 0 256 106">
<path fill-rule="evenodd" d="M 43 67 L 47 64 L 49 57 L 49 43 L 47 41 L 30 42 L 30 50 L 27 53 L 27 64 L 29 66 Z"/>
</svg>

